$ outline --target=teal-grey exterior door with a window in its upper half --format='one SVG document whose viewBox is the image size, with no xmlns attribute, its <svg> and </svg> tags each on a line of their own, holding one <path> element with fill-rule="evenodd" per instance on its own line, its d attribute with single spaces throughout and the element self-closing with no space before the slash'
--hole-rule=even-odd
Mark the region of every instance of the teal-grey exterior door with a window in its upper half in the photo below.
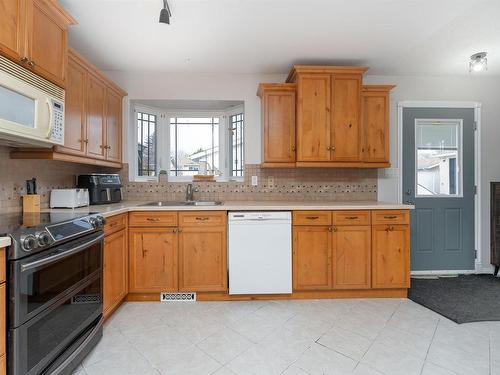
<svg viewBox="0 0 500 375">
<path fill-rule="evenodd" d="M 411 269 L 473 270 L 474 109 L 403 108 Z"/>
</svg>

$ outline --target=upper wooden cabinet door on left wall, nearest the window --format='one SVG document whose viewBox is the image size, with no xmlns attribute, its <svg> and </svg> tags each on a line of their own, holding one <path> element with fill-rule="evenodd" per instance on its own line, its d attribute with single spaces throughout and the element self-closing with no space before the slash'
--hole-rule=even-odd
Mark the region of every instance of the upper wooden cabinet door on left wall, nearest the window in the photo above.
<svg viewBox="0 0 500 375">
<path fill-rule="evenodd" d="M 122 161 L 122 98 L 106 90 L 106 159 Z"/>
</svg>

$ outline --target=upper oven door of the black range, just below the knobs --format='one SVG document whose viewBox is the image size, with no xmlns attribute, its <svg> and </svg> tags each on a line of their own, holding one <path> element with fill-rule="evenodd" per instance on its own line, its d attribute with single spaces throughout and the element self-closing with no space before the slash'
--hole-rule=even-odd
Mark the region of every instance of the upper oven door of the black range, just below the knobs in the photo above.
<svg viewBox="0 0 500 375">
<path fill-rule="evenodd" d="M 102 275 L 102 231 L 10 264 L 10 327 L 38 316 Z"/>
</svg>

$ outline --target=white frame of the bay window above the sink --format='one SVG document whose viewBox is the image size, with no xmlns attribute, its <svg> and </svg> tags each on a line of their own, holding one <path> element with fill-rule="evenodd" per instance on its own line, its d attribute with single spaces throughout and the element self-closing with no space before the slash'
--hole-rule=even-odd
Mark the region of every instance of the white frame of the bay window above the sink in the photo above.
<svg viewBox="0 0 500 375">
<path fill-rule="evenodd" d="M 229 146 L 229 116 L 233 114 L 243 113 L 243 161 L 245 161 L 245 111 L 244 105 L 231 107 L 227 111 L 196 111 L 196 110 L 162 110 L 159 108 L 145 106 L 140 103 L 134 103 L 132 106 L 132 118 L 134 121 L 132 139 L 137 140 L 137 112 L 146 112 L 157 116 L 157 136 L 156 136 L 156 163 L 158 176 L 148 177 L 138 175 L 138 160 L 134 157 L 134 161 L 130 166 L 130 179 L 135 182 L 154 182 L 159 180 L 159 173 L 164 170 L 167 172 L 167 180 L 169 182 L 191 182 L 192 176 L 171 176 L 170 175 L 170 118 L 184 117 L 184 118 L 203 118 L 203 117 L 219 117 L 219 169 L 222 171 L 222 176 L 215 176 L 217 182 L 228 181 L 244 181 L 244 176 L 229 176 L 231 171 L 230 153 L 228 152 Z M 130 155 L 137 155 L 137 142 L 128 142 Z M 165 157 L 167 156 L 167 157 Z M 244 167 L 243 163 L 243 167 Z"/>
</svg>

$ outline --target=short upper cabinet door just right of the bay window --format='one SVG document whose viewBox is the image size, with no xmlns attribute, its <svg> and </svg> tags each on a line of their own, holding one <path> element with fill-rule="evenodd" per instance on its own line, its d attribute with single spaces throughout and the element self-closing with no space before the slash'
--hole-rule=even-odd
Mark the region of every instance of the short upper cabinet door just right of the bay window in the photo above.
<svg viewBox="0 0 500 375">
<path fill-rule="evenodd" d="M 262 98 L 264 163 L 295 162 L 295 92 L 270 91 Z"/>
</svg>

